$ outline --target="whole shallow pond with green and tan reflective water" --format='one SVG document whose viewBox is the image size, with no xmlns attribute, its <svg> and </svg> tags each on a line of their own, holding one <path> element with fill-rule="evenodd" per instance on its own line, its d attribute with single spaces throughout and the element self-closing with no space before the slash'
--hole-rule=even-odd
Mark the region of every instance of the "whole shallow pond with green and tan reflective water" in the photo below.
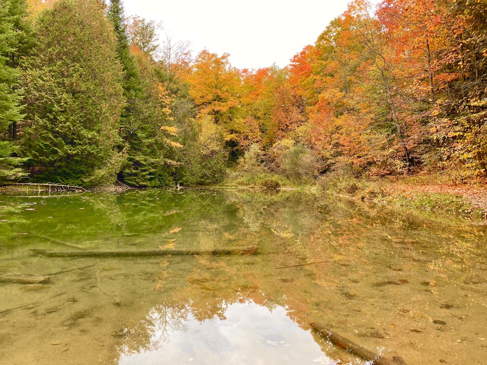
<svg viewBox="0 0 487 365">
<path fill-rule="evenodd" d="M 293 191 L 0 195 L 0 280 L 4 364 L 368 364 L 310 323 L 390 361 L 487 364 L 486 226 L 454 217 Z"/>
</svg>

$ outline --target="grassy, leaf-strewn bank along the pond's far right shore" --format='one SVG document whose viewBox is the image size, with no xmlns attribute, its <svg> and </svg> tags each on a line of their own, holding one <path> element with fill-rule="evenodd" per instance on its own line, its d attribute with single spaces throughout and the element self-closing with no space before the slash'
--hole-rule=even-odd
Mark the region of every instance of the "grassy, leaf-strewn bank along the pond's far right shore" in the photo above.
<svg viewBox="0 0 487 365">
<path fill-rule="evenodd" d="M 333 172 L 314 181 L 298 183 L 272 172 L 233 170 L 223 185 L 242 189 L 296 188 L 317 197 L 340 197 L 363 204 L 380 204 L 416 215 L 454 214 L 474 220 L 487 217 L 487 193 L 483 199 L 483 186 L 455 185 L 444 176 L 370 179 Z"/>
</svg>

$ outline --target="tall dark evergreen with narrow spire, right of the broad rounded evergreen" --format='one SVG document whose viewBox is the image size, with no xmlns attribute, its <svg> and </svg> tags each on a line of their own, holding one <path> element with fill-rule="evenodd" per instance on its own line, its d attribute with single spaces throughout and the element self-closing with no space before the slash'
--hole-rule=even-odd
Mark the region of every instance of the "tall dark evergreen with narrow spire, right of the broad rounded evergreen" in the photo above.
<svg viewBox="0 0 487 365">
<path fill-rule="evenodd" d="M 166 90 L 156 79 L 147 56 L 136 48 L 131 52 L 121 0 L 112 0 L 108 18 L 117 37 L 117 56 L 125 73 L 123 90 L 127 99 L 120 118 L 120 135 L 127 146 L 127 156 L 119 179 L 131 186 L 171 184 L 169 137 L 174 131 L 166 128 L 170 127 Z"/>
</svg>

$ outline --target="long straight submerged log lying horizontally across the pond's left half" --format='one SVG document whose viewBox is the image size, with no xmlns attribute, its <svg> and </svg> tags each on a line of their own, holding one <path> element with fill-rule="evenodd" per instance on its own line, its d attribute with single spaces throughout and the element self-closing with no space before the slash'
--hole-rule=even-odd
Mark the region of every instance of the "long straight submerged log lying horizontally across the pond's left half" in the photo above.
<svg viewBox="0 0 487 365">
<path fill-rule="evenodd" d="M 148 250 L 85 250 L 53 251 L 30 249 L 31 255 L 45 257 L 143 257 L 143 256 L 190 256 L 190 255 L 244 255 L 255 254 L 257 246 L 226 249 L 148 249 Z"/>
</svg>

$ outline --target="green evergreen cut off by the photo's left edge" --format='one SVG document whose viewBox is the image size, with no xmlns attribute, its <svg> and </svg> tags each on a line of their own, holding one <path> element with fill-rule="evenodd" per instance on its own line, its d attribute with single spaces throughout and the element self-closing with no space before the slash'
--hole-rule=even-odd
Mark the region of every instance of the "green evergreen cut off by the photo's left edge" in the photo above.
<svg viewBox="0 0 487 365">
<path fill-rule="evenodd" d="M 34 45 L 26 16 L 25 0 L 0 0 L 0 180 L 19 179 L 26 174 L 17 167 L 25 159 L 16 157 L 17 148 L 12 142 L 17 123 L 23 118 L 16 66 Z"/>
</svg>

